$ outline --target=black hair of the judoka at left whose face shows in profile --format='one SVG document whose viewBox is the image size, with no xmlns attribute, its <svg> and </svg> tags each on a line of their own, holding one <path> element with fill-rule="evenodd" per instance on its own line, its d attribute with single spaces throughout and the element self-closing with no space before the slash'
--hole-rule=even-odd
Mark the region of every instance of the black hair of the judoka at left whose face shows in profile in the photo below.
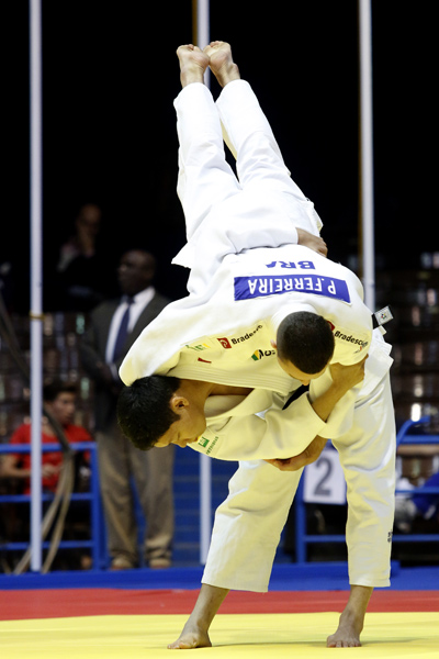
<svg viewBox="0 0 439 659">
<path fill-rule="evenodd" d="M 117 423 L 134 446 L 140 450 L 153 448 L 180 418 L 169 404 L 179 387 L 179 378 L 149 376 L 122 389 L 117 400 Z"/>
</svg>

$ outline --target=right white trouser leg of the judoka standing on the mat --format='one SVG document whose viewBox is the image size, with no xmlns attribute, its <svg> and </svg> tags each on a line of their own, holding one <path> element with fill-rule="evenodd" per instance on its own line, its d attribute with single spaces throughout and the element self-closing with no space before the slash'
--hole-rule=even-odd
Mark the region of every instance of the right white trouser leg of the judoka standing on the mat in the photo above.
<svg viewBox="0 0 439 659">
<path fill-rule="evenodd" d="M 395 418 L 389 373 L 359 399 L 353 427 L 334 440 L 348 487 L 349 581 L 390 584 L 395 492 Z"/>
</svg>

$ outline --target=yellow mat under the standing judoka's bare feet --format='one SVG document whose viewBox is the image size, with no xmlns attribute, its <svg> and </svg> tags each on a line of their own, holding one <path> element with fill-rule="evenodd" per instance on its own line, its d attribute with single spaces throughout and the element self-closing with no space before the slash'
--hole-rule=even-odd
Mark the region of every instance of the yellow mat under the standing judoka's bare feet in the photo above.
<svg viewBox="0 0 439 659">
<path fill-rule="evenodd" d="M 155 659 L 169 657 L 185 615 L 115 615 L 0 622 L 1 659 Z M 439 659 L 439 613 L 369 613 L 361 648 L 326 648 L 338 613 L 219 614 L 212 648 L 172 650 L 224 659 L 319 659 L 334 652 Z"/>
</svg>

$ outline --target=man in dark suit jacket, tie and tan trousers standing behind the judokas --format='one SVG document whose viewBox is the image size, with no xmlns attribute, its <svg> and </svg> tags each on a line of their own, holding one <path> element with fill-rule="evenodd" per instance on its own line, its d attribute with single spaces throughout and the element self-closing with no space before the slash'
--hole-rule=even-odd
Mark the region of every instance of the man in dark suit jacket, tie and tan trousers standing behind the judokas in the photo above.
<svg viewBox="0 0 439 659">
<path fill-rule="evenodd" d="M 169 303 L 151 286 L 155 269 L 151 254 L 140 249 L 124 254 L 117 270 L 123 297 L 92 311 L 81 342 L 82 366 L 94 382 L 99 473 L 112 569 L 130 569 L 139 562 L 132 478 L 147 520 L 145 561 L 151 568 L 171 565 L 173 447 L 138 450 L 116 422 L 122 388 L 119 367 L 144 327 Z"/>
</svg>

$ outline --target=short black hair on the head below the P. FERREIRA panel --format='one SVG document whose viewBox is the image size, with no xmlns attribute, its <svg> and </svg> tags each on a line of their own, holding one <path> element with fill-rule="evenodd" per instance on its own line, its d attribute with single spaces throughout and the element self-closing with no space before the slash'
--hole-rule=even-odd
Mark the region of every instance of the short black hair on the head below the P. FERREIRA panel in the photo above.
<svg viewBox="0 0 439 659">
<path fill-rule="evenodd" d="M 334 355 L 334 335 L 320 315 L 296 311 L 283 319 L 278 328 L 278 355 L 303 373 L 318 373 Z"/>
</svg>

